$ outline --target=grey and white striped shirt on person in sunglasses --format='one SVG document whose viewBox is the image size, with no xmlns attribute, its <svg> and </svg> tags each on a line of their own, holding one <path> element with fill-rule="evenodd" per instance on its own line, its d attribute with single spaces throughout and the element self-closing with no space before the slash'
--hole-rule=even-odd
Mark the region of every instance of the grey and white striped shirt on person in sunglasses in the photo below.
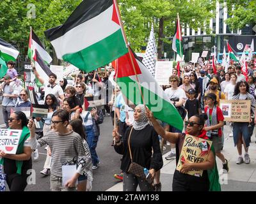
<svg viewBox="0 0 256 204">
<path fill-rule="evenodd" d="M 84 162 L 86 161 L 86 150 L 80 135 L 74 131 L 66 134 L 49 131 L 47 135 L 37 140 L 39 146 L 48 144 L 51 149 L 52 167 L 51 173 L 57 177 L 62 177 L 62 162 L 72 161 L 77 157 L 77 173 L 83 175 Z"/>
</svg>

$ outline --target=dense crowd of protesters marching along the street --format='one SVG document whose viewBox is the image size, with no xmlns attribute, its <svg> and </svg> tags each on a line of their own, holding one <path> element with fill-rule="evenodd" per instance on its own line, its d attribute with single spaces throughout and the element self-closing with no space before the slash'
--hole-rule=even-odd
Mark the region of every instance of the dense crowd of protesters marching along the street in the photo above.
<svg viewBox="0 0 256 204">
<path fill-rule="evenodd" d="M 154 79 L 145 59 L 140 61 L 130 51 L 135 56 L 132 60 L 136 69 L 140 69 L 138 75 L 146 70 L 145 75 Z M 136 191 L 138 186 L 140 191 L 161 191 L 164 159 L 176 161 L 173 191 L 221 191 L 217 157 L 223 171 L 230 170 L 222 153 L 225 125 L 232 128 L 228 136 L 234 139 L 237 149 L 236 164 L 250 164 L 249 147 L 255 145 L 251 138 L 256 122 L 256 55 L 246 62 L 246 69 L 243 63 L 232 59 L 225 65 L 203 58 L 198 62 L 180 61 L 170 67 L 168 84 L 160 86 L 152 81 L 163 91 L 168 107 L 177 116 L 174 120 L 181 121 L 178 124 L 173 115 L 161 120 L 162 110 L 154 111 L 148 103 L 153 100 L 152 95 L 141 97 L 137 103 L 127 97 L 125 91 L 129 89 L 118 80 L 130 77 L 130 83 L 138 82 L 131 82 L 131 72 L 127 75 L 122 66 L 117 66 L 118 62 L 102 64 L 92 71 L 76 69 L 60 78 L 42 64 L 42 51 L 34 52 L 30 75 L 36 84 L 41 84 L 40 91 L 19 77 L 14 61 L 6 63 L 6 74 L 1 80 L 4 124 L 10 132 L 20 130 L 16 154 L 0 150 L 0 179 L 10 191 L 26 189 L 27 171 L 38 159 L 37 148 L 43 146 L 47 157 L 40 173 L 49 178 L 51 191 L 91 191 L 93 171 L 100 165 L 97 143 L 104 117 L 112 119 L 108 124 L 113 129 L 109 148 L 122 157 L 120 172 L 113 179 L 122 180 L 124 191 Z M 140 85 L 134 89 L 139 96 L 141 89 L 145 92 Z M 228 120 L 234 100 L 250 101 L 246 122 Z M 195 143 L 195 150 L 200 149 L 201 154 L 186 157 L 184 148 Z M 170 154 L 163 158 L 166 149 L 170 149 Z M 71 168 L 72 175 L 67 173 Z M 3 182 L 0 187 L 5 189 Z"/>
</svg>

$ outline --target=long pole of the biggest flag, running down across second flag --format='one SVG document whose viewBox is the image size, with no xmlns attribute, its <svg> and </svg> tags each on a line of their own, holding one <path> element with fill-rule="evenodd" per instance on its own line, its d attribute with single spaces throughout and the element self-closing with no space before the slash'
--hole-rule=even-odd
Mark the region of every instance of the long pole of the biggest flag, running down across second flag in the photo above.
<svg viewBox="0 0 256 204">
<path fill-rule="evenodd" d="M 132 55 L 131 55 L 131 48 L 129 47 L 128 45 L 128 41 L 127 41 L 127 37 L 125 35 L 125 32 L 124 32 L 124 25 L 122 23 L 122 20 L 121 20 L 121 14 L 120 14 L 120 10 L 118 8 L 118 4 L 117 4 L 117 1 L 116 0 L 113 0 L 114 1 L 114 4 L 115 4 L 115 8 L 116 8 L 116 12 L 117 12 L 117 16 L 118 16 L 118 21 L 120 23 L 120 26 L 121 26 L 121 31 L 122 31 L 122 34 L 124 36 L 124 40 L 125 40 L 125 43 L 126 43 L 126 47 L 128 48 L 128 52 L 129 52 L 129 57 L 131 59 L 131 62 L 132 62 L 132 68 L 133 68 L 133 71 L 135 73 L 135 76 L 136 76 L 136 83 L 139 87 L 139 90 L 140 90 L 140 94 L 141 94 L 141 99 L 143 101 L 143 105 L 145 105 L 145 100 L 144 100 L 144 97 L 143 97 L 143 94 L 142 94 L 142 91 L 141 91 L 141 86 L 140 86 L 140 82 L 139 82 L 139 78 L 138 78 L 138 75 L 137 75 L 137 71 L 135 69 L 135 66 L 134 66 L 134 62 L 132 60 Z M 146 106 L 146 105 L 145 105 Z"/>
</svg>

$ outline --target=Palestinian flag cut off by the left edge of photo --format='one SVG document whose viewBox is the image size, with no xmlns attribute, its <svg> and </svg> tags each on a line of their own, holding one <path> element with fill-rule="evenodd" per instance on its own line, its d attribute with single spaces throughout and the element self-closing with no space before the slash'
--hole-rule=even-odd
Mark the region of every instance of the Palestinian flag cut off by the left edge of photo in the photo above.
<svg viewBox="0 0 256 204">
<path fill-rule="evenodd" d="M 0 38 L 0 51 L 1 51 L 0 57 L 2 57 L 6 62 L 16 61 L 19 55 L 19 51 L 15 47 L 13 47 L 10 43 L 7 43 L 1 38 Z"/>
</svg>

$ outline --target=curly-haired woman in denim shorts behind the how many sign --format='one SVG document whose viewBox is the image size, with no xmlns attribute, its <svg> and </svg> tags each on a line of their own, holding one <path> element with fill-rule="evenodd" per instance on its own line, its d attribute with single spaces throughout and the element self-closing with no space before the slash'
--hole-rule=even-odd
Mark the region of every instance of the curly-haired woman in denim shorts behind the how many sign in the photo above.
<svg viewBox="0 0 256 204">
<path fill-rule="evenodd" d="M 251 101 L 251 120 L 256 122 L 255 120 L 255 106 L 256 101 L 254 96 L 249 94 L 249 85 L 247 82 L 241 81 L 237 82 L 233 100 L 250 100 Z M 237 146 L 237 152 L 239 154 L 237 159 L 237 164 L 250 164 L 250 156 L 248 154 L 249 146 L 250 146 L 250 129 L 248 127 L 248 122 L 234 122 L 233 123 L 233 138 L 234 144 Z M 251 130 L 253 131 L 253 129 Z M 244 159 L 242 156 L 242 144 L 244 145 Z"/>
</svg>

